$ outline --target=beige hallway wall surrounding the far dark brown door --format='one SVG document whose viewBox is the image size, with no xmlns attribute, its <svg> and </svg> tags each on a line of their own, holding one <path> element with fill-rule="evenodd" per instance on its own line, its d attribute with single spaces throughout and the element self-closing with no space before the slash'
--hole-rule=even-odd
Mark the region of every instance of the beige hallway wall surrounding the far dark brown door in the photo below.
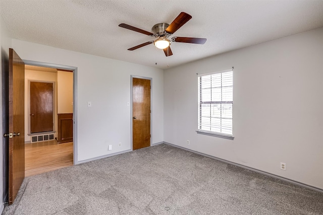
<svg viewBox="0 0 323 215">
<path fill-rule="evenodd" d="M 57 81 L 57 73 L 51 73 L 49 71 L 42 71 L 41 67 L 39 67 L 39 68 L 40 68 L 40 70 L 25 69 L 25 142 L 29 142 L 31 140 L 30 136 L 28 135 L 28 133 L 30 134 L 30 131 L 29 131 L 30 130 L 30 128 L 29 128 L 30 123 L 28 121 L 28 118 L 29 118 L 28 98 L 30 96 L 30 91 L 29 91 L 28 81 L 53 82 L 54 87 L 56 86 L 55 83 Z M 54 92 L 56 92 L 56 91 L 54 91 Z M 53 96 L 54 96 L 54 98 L 56 98 L 55 94 Z M 54 104 L 54 106 L 56 106 L 56 105 Z M 57 116 L 57 107 L 54 108 L 54 111 L 55 111 L 55 116 Z M 57 127 L 57 119 L 55 120 L 55 126 Z M 55 137 L 57 137 L 57 133 L 55 133 Z"/>
</svg>

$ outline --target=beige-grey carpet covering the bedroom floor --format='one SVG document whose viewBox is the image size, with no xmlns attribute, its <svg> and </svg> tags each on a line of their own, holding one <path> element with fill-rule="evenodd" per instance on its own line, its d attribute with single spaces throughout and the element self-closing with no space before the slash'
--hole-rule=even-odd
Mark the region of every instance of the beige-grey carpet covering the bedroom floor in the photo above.
<svg viewBox="0 0 323 215">
<path fill-rule="evenodd" d="M 322 214 L 323 193 L 161 144 L 25 178 L 3 214 Z"/>
</svg>

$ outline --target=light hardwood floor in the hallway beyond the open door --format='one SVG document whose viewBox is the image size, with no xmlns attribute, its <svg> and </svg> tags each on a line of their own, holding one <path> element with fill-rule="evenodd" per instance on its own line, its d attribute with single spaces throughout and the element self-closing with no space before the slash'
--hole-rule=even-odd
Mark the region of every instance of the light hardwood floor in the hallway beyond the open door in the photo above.
<svg viewBox="0 0 323 215">
<path fill-rule="evenodd" d="M 73 165 L 73 142 L 56 140 L 25 144 L 25 177 Z"/>
</svg>

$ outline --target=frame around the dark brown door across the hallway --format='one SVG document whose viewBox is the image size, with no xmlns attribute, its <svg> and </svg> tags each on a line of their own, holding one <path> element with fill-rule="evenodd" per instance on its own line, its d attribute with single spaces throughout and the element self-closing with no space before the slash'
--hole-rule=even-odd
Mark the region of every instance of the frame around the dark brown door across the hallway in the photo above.
<svg viewBox="0 0 323 215">
<path fill-rule="evenodd" d="M 39 80 L 33 80 L 33 79 L 28 79 L 28 86 L 27 86 L 27 116 L 28 116 L 28 133 L 27 135 L 28 136 L 32 136 L 32 133 L 31 133 L 31 117 L 30 117 L 30 82 L 41 82 L 41 83 L 52 83 L 52 87 L 54 88 L 53 92 L 52 92 L 52 121 L 53 121 L 53 126 L 52 126 L 52 132 L 57 132 L 57 129 L 56 129 L 56 115 L 57 115 L 57 108 L 56 108 L 56 82 L 53 82 L 53 81 L 39 81 Z M 46 132 L 51 132 L 51 131 L 46 131 Z M 42 132 L 44 133 L 44 132 Z M 26 141 L 26 140 L 25 140 Z"/>
</svg>

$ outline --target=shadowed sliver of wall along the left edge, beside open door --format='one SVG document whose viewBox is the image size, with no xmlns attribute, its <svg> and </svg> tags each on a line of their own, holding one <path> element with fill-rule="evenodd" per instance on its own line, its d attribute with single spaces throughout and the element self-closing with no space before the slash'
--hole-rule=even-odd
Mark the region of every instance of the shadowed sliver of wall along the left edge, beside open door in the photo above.
<svg viewBox="0 0 323 215">
<path fill-rule="evenodd" d="M 10 37 L 10 33 L 7 29 L 6 24 L 3 21 L 2 16 L 0 15 L 0 47 L 1 47 L 1 61 L 0 61 L 0 68 L 1 68 L 1 81 L 0 86 L 1 89 L 4 89 L 7 84 L 6 80 L 8 81 L 8 74 L 9 74 L 9 48 L 12 45 L 12 39 Z M 9 95 L 4 95 L 3 93 L 0 94 L 2 105 L 0 106 L 1 112 L 1 122 L 0 123 L 0 130 L 5 133 L 8 132 L 7 130 L 7 118 L 6 118 L 6 106 L 7 106 L 7 99 Z M 4 112 L 5 111 L 5 112 Z M 3 126 L 5 124 L 5 126 Z M 9 127 L 8 127 L 9 128 Z M 2 177 L 0 177 L 0 213 L 2 213 L 4 209 L 3 202 L 8 196 L 8 156 L 7 151 L 9 151 L 8 141 L 5 141 L 3 135 L 1 135 L 1 146 L 0 147 L 0 173 L 2 173 Z"/>
</svg>

